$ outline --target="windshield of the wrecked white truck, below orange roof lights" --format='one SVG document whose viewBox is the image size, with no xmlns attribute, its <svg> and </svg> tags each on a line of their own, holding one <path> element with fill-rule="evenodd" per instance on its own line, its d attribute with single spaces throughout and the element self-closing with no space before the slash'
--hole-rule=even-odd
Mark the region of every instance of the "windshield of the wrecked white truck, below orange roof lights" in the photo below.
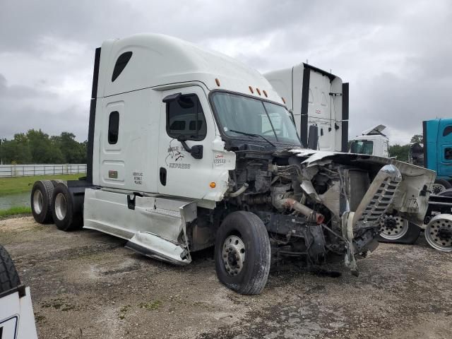
<svg viewBox="0 0 452 339">
<path fill-rule="evenodd" d="M 212 102 L 220 129 L 227 136 L 249 133 L 268 141 L 301 145 L 290 113 L 283 106 L 224 92 L 213 93 Z"/>
</svg>

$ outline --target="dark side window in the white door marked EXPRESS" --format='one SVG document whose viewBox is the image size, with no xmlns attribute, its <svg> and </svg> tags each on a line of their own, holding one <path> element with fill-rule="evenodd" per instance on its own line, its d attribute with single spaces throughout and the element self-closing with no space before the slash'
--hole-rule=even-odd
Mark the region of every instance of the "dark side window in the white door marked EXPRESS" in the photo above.
<svg viewBox="0 0 452 339">
<path fill-rule="evenodd" d="M 196 94 L 181 95 L 167 102 L 167 133 L 172 138 L 185 136 L 193 141 L 206 138 L 206 118 Z"/>
</svg>

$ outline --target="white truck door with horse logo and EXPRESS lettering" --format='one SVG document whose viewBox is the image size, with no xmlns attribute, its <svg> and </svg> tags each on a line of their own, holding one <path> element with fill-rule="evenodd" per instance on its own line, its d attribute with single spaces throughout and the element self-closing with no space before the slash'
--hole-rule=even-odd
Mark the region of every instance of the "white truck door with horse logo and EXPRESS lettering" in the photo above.
<svg viewBox="0 0 452 339">
<path fill-rule="evenodd" d="M 213 180 L 214 139 L 215 121 L 201 87 L 164 91 L 158 146 L 158 192 L 203 198 Z M 195 151 L 190 153 L 187 148 Z"/>
</svg>

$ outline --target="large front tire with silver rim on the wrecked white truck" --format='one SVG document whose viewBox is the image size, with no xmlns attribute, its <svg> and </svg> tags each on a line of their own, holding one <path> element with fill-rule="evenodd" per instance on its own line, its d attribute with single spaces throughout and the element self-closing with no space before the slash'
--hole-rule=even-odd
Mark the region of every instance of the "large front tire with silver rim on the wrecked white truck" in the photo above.
<svg viewBox="0 0 452 339">
<path fill-rule="evenodd" d="M 223 220 L 215 239 L 215 270 L 231 290 L 242 295 L 262 292 L 270 272 L 270 239 L 257 215 L 237 211 Z"/>
</svg>

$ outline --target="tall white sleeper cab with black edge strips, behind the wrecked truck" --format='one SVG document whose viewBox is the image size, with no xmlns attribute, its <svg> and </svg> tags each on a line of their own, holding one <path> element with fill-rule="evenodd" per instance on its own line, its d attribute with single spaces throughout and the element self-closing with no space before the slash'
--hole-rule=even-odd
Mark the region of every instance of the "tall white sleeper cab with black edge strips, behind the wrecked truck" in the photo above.
<svg viewBox="0 0 452 339">
<path fill-rule="evenodd" d="M 348 83 L 304 63 L 263 76 L 292 111 L 304 147 L 347 152 Z"/>
</svg>

